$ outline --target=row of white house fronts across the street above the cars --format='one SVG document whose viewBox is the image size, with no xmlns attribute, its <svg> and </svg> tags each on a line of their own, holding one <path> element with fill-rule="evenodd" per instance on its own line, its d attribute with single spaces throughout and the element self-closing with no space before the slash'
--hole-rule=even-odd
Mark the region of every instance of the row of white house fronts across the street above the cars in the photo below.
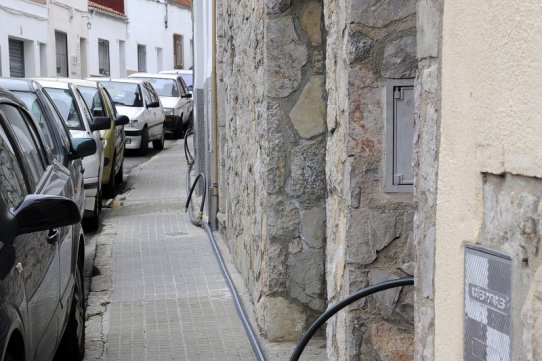
<svg viewBox="0 0 542 361">
<path fill-rule="evenodd" d="M 190 0 L 0 0 L 0 75 L 125 77 L 193 65 Z"/>
</svg>

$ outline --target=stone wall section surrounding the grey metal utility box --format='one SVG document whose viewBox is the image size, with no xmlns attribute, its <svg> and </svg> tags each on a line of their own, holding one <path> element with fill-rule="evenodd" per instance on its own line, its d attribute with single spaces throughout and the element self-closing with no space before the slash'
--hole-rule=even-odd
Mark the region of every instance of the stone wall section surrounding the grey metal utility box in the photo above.
<svg viewBox="0 0 542 361">
<path fill-rule="evenodd" d="M 326 2 L 324 14 L 326 279 L 334 303 L 369 284 L 414 274 L 412 194 L 385 191 L 385 82 L 416 75 L 416 2 L 336 0 Z M 413 318 L 411 289 L 360 301 L 328 321 L 328 356 L 412 359 Z"/>
</svg>

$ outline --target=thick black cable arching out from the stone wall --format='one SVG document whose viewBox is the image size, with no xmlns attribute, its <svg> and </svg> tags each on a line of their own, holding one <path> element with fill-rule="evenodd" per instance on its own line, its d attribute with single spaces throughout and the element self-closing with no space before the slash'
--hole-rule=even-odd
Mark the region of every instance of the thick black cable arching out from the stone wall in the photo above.
<svg viewBox="0 0 542 361">
<path fill-rule="evenodd" d="M 365 287 L 356 293 L 348 296 L 342 301 L 339 301 L 335 305 L 331 306 L 327 309 L 326 312 L 320 315 L 316 321 L 312 323 L 312 325 L 309 327 L 307 332 L 303 335 L 299 343 L 297 344 L 297 347 L 295 348 L 294 352 L 292 353 L 292 356 L 290 357 L 290 361 L 298 361 L 299 357 L 301 356 L 301 353 L 305 349 L 305 346 L 309 343 L 309 340 L 314 336 L 318 328 L 322 326 L 331 316 L 348 306 L 349 304 L 363 298 L 367 297 L 369 295 L 372 295 L 373 293 L 377 293 L 380 291 L 385 291 L 390 288 L 395 287 L 402 287 L 402 286 L 410 286 L 414 284 L 414 277 L 405 277 L 405 278 L 399 278 L 396 280 L 391 281 L 384 281 L 381 283 L 377 283 L 376 285 Z"/>
</svg>

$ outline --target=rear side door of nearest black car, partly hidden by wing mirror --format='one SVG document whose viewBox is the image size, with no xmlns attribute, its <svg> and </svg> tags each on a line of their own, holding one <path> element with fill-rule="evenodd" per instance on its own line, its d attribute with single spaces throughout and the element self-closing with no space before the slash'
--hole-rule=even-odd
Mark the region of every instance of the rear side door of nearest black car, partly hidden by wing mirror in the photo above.
<svg viewBox="0 0 542 361">
<path fill-rule="evenodd" d="M 7 138 L 22 164 L 28 193 L 70 196 L 69 171 L 53 160 L 32 118 L 14 104 L 0 104 Z M 8 124 L 9 123 L 9 124 Z M 27 339 L 35 360 L 50 360 L 58 343 L 60 308 L 59 243 L 71 231 L 50 229 L 17 237 L 14 242 L 18 271 L 23 275 L 27 300 Z"/>
</svg>

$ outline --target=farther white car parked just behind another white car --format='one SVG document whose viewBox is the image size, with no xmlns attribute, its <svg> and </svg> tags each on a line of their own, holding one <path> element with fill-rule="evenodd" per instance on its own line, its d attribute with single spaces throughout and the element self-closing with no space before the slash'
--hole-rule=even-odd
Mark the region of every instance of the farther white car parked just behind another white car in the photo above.
<svg viewBox="0 0 542 361">
<path fill-rule="evenodd" d="M 166 115 L 166 133 L 182 138 L 192 123 L 192 93 L 179 74 L 135 73 L 131 79 L 144 79 L 151 83 L 160 97 Z"/>
</svg>

